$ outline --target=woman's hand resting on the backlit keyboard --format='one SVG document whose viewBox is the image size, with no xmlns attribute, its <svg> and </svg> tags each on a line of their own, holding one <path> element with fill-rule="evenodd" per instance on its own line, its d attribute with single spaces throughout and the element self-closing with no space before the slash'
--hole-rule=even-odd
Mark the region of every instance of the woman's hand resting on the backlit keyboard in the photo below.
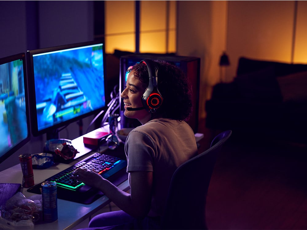
<svg viewBox="0 0 307 230">
<path fill-rule="evenodd" d="M 81 181 L 92 188 L 99 188 L 100 182 L 105 180 L 100 174 L 82 168 L 77 169 L 70 178 Z"/>
</svg>

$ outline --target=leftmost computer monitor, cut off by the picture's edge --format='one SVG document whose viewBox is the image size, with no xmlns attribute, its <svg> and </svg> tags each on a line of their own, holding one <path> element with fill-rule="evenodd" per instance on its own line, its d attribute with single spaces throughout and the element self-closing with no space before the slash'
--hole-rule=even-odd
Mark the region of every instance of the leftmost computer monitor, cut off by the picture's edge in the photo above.
<svg viewBox="0 0 307 230">
<path fill-rule="evenodd" d="M 25 53 L 0 58 L 0 163 L 30 140 Z"/>
</svg>

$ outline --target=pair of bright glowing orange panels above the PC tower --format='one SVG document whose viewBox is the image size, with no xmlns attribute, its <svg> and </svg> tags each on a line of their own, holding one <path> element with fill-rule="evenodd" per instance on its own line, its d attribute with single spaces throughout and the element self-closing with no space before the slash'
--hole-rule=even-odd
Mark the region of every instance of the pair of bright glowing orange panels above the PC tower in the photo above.
<svg viewBox="0 0 307 230">
<path fill-rule="evenodd" d="M 176 1 L 140 1 L 142 53 L 176 52 Z M 135 1 L 105 1 L 106 53 L 136 51 Z"/>
</svg>

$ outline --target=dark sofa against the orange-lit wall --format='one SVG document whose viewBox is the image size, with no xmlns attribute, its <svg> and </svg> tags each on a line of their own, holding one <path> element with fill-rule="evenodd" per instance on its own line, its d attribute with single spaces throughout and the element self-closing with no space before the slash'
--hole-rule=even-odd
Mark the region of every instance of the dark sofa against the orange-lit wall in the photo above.
<svg viewBox="0 0 307 230">
<path fill-rule="evenodd" d="M 241 57 L 205 109 L 207 128 L 307 143 L 307 65 Z"/>
</svg>

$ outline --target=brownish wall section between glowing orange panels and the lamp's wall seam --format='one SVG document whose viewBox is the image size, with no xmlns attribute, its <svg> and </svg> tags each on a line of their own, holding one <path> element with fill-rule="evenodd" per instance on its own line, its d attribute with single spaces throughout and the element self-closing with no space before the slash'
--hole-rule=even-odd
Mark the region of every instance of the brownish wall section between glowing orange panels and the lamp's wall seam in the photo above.
<svg viewBox="0 0 307 230">
<path fill-rule="evenodd" d="M 226 1 L 178 1 L 177 54 L 200 57 L 199 117 L 211 86 L 220 79 L 220 55 L 225 50 Z"/>
</svg>

